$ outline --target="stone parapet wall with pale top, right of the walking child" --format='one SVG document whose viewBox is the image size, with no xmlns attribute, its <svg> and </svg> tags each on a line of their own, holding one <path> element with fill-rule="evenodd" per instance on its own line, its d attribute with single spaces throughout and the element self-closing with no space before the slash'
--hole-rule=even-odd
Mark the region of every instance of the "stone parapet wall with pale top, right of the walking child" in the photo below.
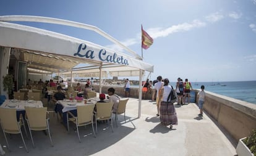
<svg viewBox="0 0 256 156">
<path fill-rule="evenodd" d="M 198 102 L 198 97 L 196 99 Z M 237 142 L 249 136 L 252 129 L 256 129 L 256 104 L 206 91 L 203 110 L 226 129 Z"/>
</svg>

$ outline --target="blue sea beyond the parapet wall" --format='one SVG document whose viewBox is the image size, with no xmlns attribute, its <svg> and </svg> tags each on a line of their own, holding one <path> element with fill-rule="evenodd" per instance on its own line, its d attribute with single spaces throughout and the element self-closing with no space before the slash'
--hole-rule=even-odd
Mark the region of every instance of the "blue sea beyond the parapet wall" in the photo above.
<svg viewBox="0 0 256 156">
<path fill-rule="evenodd" d="M 256 81 L 228 81 L 228 82 L 190 82 L 193 89 L 205 86 L 205 91 L 214 92 L 223 96 L 233 97 L 241 101 L 256 104 Z M 170 82 L 174 88 L 176 82 Z M 138 85 L 132 85 L 138 87 Z"/>
</svg>

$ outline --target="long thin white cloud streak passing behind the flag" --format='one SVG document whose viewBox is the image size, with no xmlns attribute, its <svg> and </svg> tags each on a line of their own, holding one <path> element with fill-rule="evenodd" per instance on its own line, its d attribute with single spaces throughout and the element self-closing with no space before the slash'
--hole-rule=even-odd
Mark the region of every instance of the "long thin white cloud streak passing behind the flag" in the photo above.
<svg viewBox="0 0 256 156">
<path fill-rule="evenodd" d="M 168 28 L 150 28 L 147 31 L 148 35 L 151 36 L 151 38 L 156 39 L 156 38 L 164 38 L 166 36 L 171 35 L 172 33 L 179 33 L 182 31 L 189 31 L 194 28 L 200 28 L 200 27 L 205 27 L 206 23 L 201 22 L 200 20 L 193 20 L 190 23 L 182 23 L 179 25 L 172 25 L 171 27 Z M 140 44 L 140 39 L 141 39 L 141 33 L 137 35 L 136 38 L 130 38 L 126 39 L 126 41 L 122 41 L 121 43 L 124 44 L 125 46 L 132 46 L 134 44 Z M 118 51 L 122 51 L 122 47 L 117 46 L 116 44 L 111 44 L 106 46 L 109 49 L 114 49 Z"/>
</svg>

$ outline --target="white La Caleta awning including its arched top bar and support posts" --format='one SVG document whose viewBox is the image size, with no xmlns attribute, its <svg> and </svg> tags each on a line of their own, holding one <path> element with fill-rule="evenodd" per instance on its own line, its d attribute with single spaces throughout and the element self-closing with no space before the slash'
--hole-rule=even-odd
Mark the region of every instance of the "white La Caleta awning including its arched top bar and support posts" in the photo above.
<svg viewBox="0 0 256 156">
<path fill-rule="evenodd" d="M 98 44 L 53 31 L 9 23 L 17 21 L 54 23 L 93 30 L 133 55 L 127 55 Z M 142 75 L 143 71 L 153 72 L 153 65 L 143 62 L 138 54 L 99 28 L 57 18 L 10 15 L 0 16 L 0 36 L 0 46 L 11 47 L 11 52 L 14 51 L 16 54 L 15 57 L 19 57 L 18 60 L 27 62 L 27 67 L 31 71 L 37 69 L 38 71 L 44 70 L 46 72 L 61 73 L 71 71 L 78 64 L 90 64 L 98 68 L 100 79 L 103 76 L 102 73 L 106 74 L 106 72 L 111 76 L 139 76 L 138 117 L 140 118 Z M 86 74 L 85 70 L 87 72 L 91 70 L 92 72 L 95 68 L 89 66 L 84 68 L 84 71 L 81 73 L 79 71 L 74 72 Z"/>
</svg>

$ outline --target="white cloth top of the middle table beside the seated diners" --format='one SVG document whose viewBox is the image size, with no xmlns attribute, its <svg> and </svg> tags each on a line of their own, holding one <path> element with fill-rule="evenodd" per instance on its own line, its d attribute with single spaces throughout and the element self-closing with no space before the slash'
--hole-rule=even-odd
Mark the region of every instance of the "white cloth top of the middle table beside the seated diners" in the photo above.
<svg viewBox="0 0 256 156">
<path fill-rule="evenodd" d="M 95 104 L 96 102 L 87 100 L 87 104 Z M 76 110 L 77 105 L 85 105 L 85 102 L 77 102 L 74 100 L 74 102 L 70 102 L 69 100 L 66 101 L 57 101 L 57 104 L 61 104 L 63 106 L 62 112 L 67 112 L 69 110 Z"/>
</svg>

